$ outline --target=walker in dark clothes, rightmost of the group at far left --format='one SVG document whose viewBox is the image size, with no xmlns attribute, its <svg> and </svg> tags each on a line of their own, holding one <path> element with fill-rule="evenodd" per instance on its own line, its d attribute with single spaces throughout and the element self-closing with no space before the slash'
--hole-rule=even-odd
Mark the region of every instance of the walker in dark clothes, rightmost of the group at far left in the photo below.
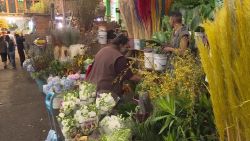
<svg viewBox="0 0 250 141">
<path fill-rule="evenodd" d="M 19 59 L 20 59 L 20 64 L 21 67 L 23 66 L 23 62 L 25 61 L 25 53 L 24 53 L 24 44 L 23 42 L 25 41 L 24 37 L 18 34 L 15 34 L 16 36 L 16 43 L 17 43 L 17 51 L 19 54 Z"/>
</svg>

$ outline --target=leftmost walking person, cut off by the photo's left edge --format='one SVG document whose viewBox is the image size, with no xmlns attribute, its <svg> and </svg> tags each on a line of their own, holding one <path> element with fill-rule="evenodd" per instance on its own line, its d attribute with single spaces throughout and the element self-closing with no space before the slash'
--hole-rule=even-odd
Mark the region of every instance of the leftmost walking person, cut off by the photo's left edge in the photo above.
<svg viewBox="0 0 250 141">
<path fill-rule="evenodd" d="M 0 55 L 4 69 L 7 69 L 7 43 L 4 40 L 4 36 L 0 36 Z"/>
</svg>

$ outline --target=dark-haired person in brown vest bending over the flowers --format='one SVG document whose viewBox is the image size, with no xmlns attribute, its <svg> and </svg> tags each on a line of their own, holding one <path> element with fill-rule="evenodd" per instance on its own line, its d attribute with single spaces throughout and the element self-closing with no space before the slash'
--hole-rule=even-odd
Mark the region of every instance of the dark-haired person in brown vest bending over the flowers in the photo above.
<svg viewBox="0 0 250 141">
<path fill-rule="evenodd" d="M 95 56 L 94 64 L 87 81 L 97 85 L 97 92 L 110 91 L 115 98 L 121 97 L 124 80 L 139 81 L 129 69 L 129 62 L 124 57 L 129 48 L 129 39 L 121 34 L 111 45 L 102 48 Z M 120 78 L 116 81 L 117 78 Z"/>
</svg>

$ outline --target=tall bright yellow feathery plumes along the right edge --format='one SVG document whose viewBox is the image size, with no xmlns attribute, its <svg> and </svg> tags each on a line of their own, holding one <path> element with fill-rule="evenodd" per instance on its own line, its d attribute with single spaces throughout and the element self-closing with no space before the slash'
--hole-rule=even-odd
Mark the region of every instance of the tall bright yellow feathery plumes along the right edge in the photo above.
<svg viewBox="0 0 250 141">
<path fill-rule="evenodd" d="M 250 1 L 225 0 L 198 44 L 220 140 L 250 140 Z"/>
</svg>

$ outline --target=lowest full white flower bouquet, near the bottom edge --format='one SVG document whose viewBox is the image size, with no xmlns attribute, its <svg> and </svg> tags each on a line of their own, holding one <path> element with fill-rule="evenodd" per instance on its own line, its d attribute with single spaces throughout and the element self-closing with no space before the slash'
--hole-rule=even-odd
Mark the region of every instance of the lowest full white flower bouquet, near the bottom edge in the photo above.
<svg viewBox="0 0 250 141">
<path fill-rule="evenodd" d="M 124 119 L 121 116 L 106 116 L 99 126 L 102 134 L 111 135 L 115 131 L 124 128 Z"/>
</svg>

